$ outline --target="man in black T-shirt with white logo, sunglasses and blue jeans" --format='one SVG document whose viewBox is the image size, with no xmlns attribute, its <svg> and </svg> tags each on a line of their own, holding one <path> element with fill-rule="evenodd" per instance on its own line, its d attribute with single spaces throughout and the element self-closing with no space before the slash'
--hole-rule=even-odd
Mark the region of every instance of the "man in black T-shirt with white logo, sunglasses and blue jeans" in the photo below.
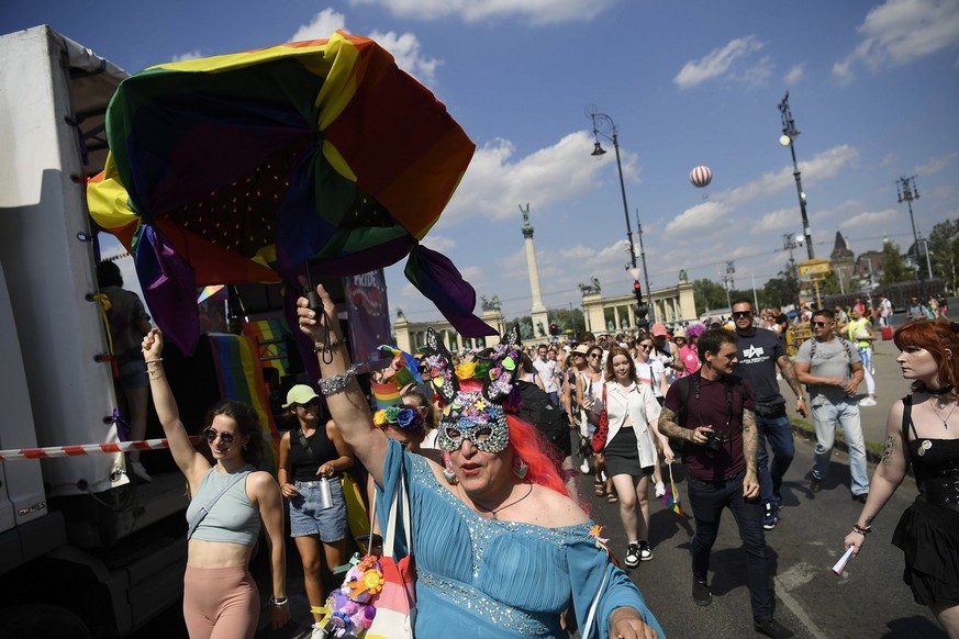
<svg viewBox="0 0 959 639">
<path fill-rule="evenodd" d="M 785 413 L 785 397 L 779 392 L 776 381 L 776 367 L 795 393 L 795 410 L 806 416 L 806 402 L 803 388 L 785 355 L 785 347 L 772 330 L 752 325 L 752 302 L 747 299 L 733 302 L 733 322 L 739 337 L 739 361 L 736 374 L 749 382 L 756 393 L 756 428 L 759 433 L 759 493 L 766 513 L 762 527 L 772 530 L 779 523 L 779 507 L 782 504 L 780 487 L 782 478 L 795 457 L 795 442 L 792 424 Z M 772 462 L 766 442 L 772 449 Z"/>
</svg>

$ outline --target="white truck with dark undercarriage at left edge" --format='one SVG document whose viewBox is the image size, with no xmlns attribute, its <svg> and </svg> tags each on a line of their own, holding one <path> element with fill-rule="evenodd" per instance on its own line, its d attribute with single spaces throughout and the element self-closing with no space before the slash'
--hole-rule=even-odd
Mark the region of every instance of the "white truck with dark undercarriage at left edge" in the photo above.
<svg viewBox="0 0 959 639">
<path fill-rule="evenodd" d="M 116 441 L 86 177 L 124 77 L 48 26 L 0 36 L 3 450 Z M 181 596 L 186 505 L 178 472 L 137 483 L 120 452 L 0 462 L 0 636 L 142 627 Z"/>
</svg>

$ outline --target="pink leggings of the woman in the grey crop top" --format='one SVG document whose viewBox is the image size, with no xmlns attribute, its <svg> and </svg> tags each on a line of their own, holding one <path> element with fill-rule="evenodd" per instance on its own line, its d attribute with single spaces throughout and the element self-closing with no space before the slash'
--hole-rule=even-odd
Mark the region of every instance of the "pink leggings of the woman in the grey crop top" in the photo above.
<svg viewBox="0 0 959 639">
<path fill-rule="evenodd" d="M 253 639 L 259 591 L 246 565 L 187 567 L 183 619 L 190 639 Z"/>
</svg>

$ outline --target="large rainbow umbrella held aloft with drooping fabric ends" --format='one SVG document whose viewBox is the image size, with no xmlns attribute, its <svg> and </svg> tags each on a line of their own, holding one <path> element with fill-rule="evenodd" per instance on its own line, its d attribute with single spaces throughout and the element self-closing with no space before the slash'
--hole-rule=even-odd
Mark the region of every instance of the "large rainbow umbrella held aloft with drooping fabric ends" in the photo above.
<svg viewBox="0 0 959 639">
<path fill-rule="evenodd" d="M 308 268 L 354 274 L 408 255 L 406 277 L 457 330 L 493 333 L 456 267 L 420 245 L 475 145 L 371 40 L 337 32 L 147 68 L 120 85 L 107 136 L 90 212 L 135 256 L 157 324 L 186 352 L 198 288 L 299 290 Z"/>
</svg>

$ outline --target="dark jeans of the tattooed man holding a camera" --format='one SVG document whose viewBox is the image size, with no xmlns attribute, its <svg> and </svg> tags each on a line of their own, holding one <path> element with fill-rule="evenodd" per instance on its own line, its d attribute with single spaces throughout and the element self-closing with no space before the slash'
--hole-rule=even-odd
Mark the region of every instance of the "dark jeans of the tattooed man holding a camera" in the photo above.
<svg viewBox="0 0 959 639">
<path fill-rule="evenodd" d="M 776 612 L 776 590 L 769 569 L 769 553 L 766 549 L 766 535 L 762 532 L 765 508 L 758 500 L 743 498 L 743 473 L 728 481 L 707 482 L 689 478 L 689 503 L 696 522 L 696 534 L 692 539 L 693 578 L 705 580 L 710 570 L 710 552 L 720 531 L 720 516 L 723 508 L 729 508 L 739 528 L 739 538 L 746 550 L 749 598 L 752 603 L 752 618 L 771 619 Z"/>
</svg>

